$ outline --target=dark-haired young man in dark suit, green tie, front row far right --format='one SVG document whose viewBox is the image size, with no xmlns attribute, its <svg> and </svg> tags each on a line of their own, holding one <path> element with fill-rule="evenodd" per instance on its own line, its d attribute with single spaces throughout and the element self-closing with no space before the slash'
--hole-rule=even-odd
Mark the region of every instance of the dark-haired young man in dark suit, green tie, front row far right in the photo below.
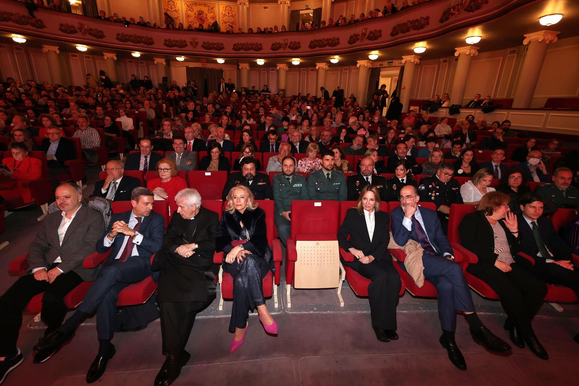
<svg viewBox="0 0 579 386">
<path fill-rule="evenodd" d="M 573 267 L 569 245 L 559 237 L 551 220 L 543 215 L 545 199 L 536 193 L 521 197 L 519 222 L 521 252 L 535 260 L 533 273 L 551 284 L 569 287 L 579 295 L 579 271 Z"/>
</svg>

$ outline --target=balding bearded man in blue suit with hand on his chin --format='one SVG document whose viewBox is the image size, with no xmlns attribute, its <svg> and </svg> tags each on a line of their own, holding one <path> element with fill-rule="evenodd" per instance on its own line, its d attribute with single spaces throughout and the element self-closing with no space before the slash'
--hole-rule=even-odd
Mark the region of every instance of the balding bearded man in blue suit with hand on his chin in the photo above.
<svg viewBox="0 0 579 386">
<path fill-rule="evenodd" d="M 401 246 L 409 239 L 423 247 L 422 264 L 424 278 L 433 283 L 438 291 L 438 317 L 442 336 L 439 342 L 448 351 L 450 362 L 460 370 L 467 365 L 455 341 L 456 311 L 463 311 L 475 342 L 490 351 L 504 352 L 511 349 L 499 337 L 482 324 L 476 312 L 470 289 L 462 268 L 455 263 L 453 250 L 434 210 L 417 206 L 418 189 L 406 185 L 400 190 L 401 206 L 390 213 L 394 241 Z M 401 264 L 404 268 L 404 265 Z"/>
</svg>

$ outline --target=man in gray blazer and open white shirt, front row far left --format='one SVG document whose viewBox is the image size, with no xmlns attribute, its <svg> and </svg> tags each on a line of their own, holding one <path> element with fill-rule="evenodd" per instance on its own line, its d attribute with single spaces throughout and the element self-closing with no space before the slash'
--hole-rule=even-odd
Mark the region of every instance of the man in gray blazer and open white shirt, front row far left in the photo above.
<svg viewBox="0 0 579 386">
<path fill-rule="evenodd" d="M 0 360 L 13 362 L 6 367 L 9 370 L 23 359 L 16 342 L 22 311 L 32 297 L 44 292 L 41 315 L 48 326 L 46 336 L 64 320 L 67 312 L 64 296 L 83 281 L 94 281 L 101 267 L 86 269 L 82 262 L 95 251 L 97 240 L 105 230 L 102 215 L 82 205 L 82 190 L 74 183 L 60 184 L 55 196 L 62 212 L 50 213 L 42 221 L 28 249 L 28 271 L 0 297 Z M 43 362 L 53 354 L 39 351 L 34 363 Z M 0 379 L 5 374 L 0 374 Z"/>
</svg>

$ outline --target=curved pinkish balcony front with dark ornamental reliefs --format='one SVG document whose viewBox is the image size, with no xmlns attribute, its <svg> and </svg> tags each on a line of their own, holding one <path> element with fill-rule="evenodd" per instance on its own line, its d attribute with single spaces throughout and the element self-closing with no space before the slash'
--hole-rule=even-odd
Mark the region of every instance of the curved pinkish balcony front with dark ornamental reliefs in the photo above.
<svg viewBox="0 0 579 386">
<path fill-rule="evenodd" d="M 118 50 L 198 57 L 263 59 L 316 57 L 386 49 L 433 39 L 486 23 L 536 0 L 470 0 L 450 16 L 449 0 L 432 0 L 387 17 L 343 27 L 276 34 L 224 34 L 166 30 L 102 21 L 38 9 L 35 19 L 22 3 L 0 0 L 0 30 L 25 37 Z"/>
</svg>

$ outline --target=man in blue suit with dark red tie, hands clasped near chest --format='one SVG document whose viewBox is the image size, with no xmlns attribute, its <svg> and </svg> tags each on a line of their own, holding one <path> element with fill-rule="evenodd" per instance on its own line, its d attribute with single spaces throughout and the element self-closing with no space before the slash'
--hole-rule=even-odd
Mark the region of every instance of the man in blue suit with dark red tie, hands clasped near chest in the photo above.
<svg viewBox="0 0 579 386">
<path fill-rule="evenodd" d="M 111 250 L 96 281 L 87 291 L 76 312 L 55 332 L 45 337 L 34 349 L 58 349 L 72 334 L 78 323 L 97 312 L 98 354 L 86 374 L 87 383 L 96 381 L 105 372 L 107 362 L 115 355 L 111 344 L 115 331 L 116 300 L 119 292 L 132 283 L 151 275 L 151 256 L 161 249 L 165 233 L 163 216 L 152 212 L 155 198 L 147 188 L 134 188 L 133 210 L 113 214 L 107 231 L 97 241 L 97 252 Z"/>
</svg>

